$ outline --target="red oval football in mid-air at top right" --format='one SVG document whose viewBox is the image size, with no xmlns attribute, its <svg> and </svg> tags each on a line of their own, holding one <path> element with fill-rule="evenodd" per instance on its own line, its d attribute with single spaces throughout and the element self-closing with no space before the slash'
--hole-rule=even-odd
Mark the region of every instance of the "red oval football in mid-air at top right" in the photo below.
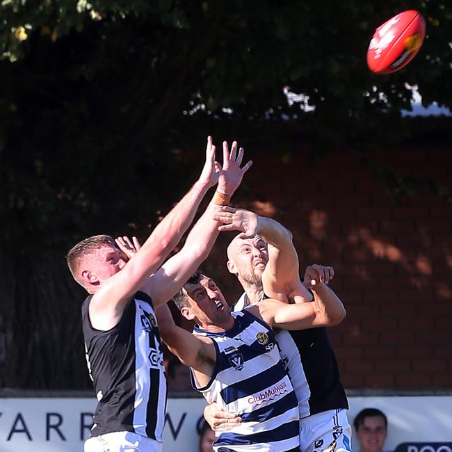
<svg viewBox="0 0 452 452">
<path fill-rule="evenodd" d="M 377 74 L 396 72 L 421 48 L 426 21 L 414 10 L 403 11 L 376 29 L 367 51 L 367 65 Z"/>
</svg>

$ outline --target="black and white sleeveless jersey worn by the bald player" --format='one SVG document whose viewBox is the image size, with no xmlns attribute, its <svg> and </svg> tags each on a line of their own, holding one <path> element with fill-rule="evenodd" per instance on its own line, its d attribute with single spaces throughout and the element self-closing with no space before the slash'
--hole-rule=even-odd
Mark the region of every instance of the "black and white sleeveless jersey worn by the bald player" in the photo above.
<svg viewBox="0 0 452 452">
<path fill-rule="evenodd" d="M 245 293 L 234 305 L 243 309 Z M 275 332 L 275 339 L 298 399 L 300 419 L 328 410 L 348 409 L 328 328 Z"/>
</svg>

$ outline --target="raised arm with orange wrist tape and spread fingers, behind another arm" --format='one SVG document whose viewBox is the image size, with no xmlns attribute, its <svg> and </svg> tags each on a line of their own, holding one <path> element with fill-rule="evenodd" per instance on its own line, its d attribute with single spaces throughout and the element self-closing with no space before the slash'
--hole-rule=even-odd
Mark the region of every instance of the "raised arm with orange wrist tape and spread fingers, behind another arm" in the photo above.
<svg viewBox="0 0 452 452">
<path fill-rule="evenodd" d="M 155 307 L 175 296 L 202 261 L 207 259 L 219 234 L 220 223 L 215 219 L 216 213 L 221 211 L 222 204 L 229 202 L 229 198 L 239 187 L 243 175 L 251 166 L 252 162 L 248 162 L 241 168 L 242 160 L 243 148 L 240 148 L 237 153 L 237 143 L 234 141 L 229 155 L 227 143 L 223 143 L 223 170 L 218 179 L 218 188 L 213 195 L 213 200 L 191 229 L 184 247 L 168 259 L 143 286 L 143 290 L 149 293 Z"/>
</svg>

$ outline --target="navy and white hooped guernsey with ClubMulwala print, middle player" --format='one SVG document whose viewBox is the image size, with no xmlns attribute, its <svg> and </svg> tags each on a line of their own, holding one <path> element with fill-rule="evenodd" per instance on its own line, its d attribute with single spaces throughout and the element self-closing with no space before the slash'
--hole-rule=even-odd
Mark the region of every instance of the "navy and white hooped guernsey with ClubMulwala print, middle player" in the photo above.
<svg viewBox="0 0 452 452">
<path fill-rule="evenodd" d="M 242 418 L 240 426 L 220 434 L 213 450 L 298 451 L 298 403 L 273 332 L 246 309 L 232 316 L 234 327 L 226 332 L 194 330 L 211 337 L 216 348 L 211 380 L 198 391 Z"/>
</svg>

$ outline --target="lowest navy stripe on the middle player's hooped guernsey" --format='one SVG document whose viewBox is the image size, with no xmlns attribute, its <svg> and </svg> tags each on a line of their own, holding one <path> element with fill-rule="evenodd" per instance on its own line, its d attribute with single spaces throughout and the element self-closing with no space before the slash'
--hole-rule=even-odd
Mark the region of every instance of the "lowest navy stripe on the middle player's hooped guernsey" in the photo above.
<svg viewBox="0 0 452 452">
<path fill-rule="evenodd" d="M 252 433 L 251 435 L 222 433 L 220 438 L 213 443 L 213 446 L 245 446 L 247 444 L 268 444 L 275 441 L 284 441 L 284 439 L 298 437 L 299 427 L 300 423 L 298 421 L 291 421 L 273 430 Z"/>
</svg>

